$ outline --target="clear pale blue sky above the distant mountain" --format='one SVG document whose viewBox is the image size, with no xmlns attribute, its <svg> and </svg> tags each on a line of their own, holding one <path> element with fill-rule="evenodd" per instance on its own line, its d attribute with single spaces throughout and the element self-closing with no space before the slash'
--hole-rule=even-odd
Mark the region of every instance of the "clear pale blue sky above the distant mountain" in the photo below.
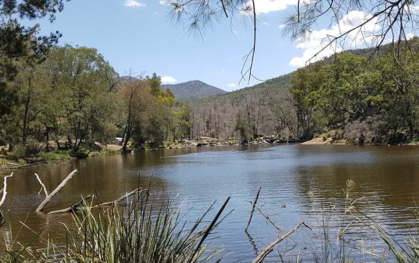
<svg viewBox="0 0 419 263">
<path fill-rule="evenodd" d="M 282 36 L 284 12 L 292 8 L 283 2 L 292 5 L 295 0 L 268 0 L 267 7 L 263 5 L 266 0 L 259 1 L 268 9 L 261 10 L 258 16 L 253 72 L 259 79 L 269 79 L 301 66 L 306 51 L 312 47 L 301 43 L 297 46 Z M 282 6 L 272 5 L 279 1 Z M 165 82 L 200 80 L 227 91 L 257 82 L 238 85 L 242 57 L 252 45 L 251 31 L 233 23 L 233 34 L 225 18 L 203 39 L 196 39 L 167 21 L 166 13 L 167 7 L 159 0 L 71 0 L 54 23 L 36 22 L 44 34 L 56 30 L 63 33 L 61 44 L 98 49 L 121 75 L 132 68 L 134 72 L 156 72 Z M 298 57 L 300 62 L 295 63 Z"/>
</svg>

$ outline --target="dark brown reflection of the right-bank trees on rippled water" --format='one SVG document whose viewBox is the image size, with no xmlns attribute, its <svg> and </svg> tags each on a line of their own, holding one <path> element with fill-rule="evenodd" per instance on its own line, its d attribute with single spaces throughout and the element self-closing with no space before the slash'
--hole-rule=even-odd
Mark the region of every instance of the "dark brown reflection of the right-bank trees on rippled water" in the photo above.
<svg viewBox="0 0 419 263">
<path fill-rule="evenodd" d="M 396 228 L 412 227 L 413 198 L 419 198 L 419 167 L 387 157 L 372 150 L 368 160 L 298 166 L 296 188 L 306 196 L 305 206 L 311 207 L 311 212 L 319 207 L 308 201 L 309 191 L 324 206 L 339 210 L 345 203 L 345 182 L 351 179 L 356 183 L 355 197 L 365 196 L 357 202 L 360 211 L 377 222 L 394 224 Z M 307 213 L 311 212 L 308 208 Z"/>
</svg>

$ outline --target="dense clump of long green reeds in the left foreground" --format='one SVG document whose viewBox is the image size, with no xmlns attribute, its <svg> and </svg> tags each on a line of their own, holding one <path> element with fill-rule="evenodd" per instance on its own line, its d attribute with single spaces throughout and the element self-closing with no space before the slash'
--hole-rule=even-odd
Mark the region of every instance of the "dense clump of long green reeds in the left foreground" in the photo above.
<svg viewBox="0 0 419 263">
<path fill-rule="evenodd" d="M 203 226 L 214 205 L 196 221 L 182 220 L 180 209 L 171 201 L 156 207 L 148 202 L 148 193 L 123 205 L 93 208 L 85 203 L 73 214 L 73 226 L 64 225 L 65 243 L 37 235 L 42 249 L 20 246 L 7 248 L 0 262 L 66 263 L 206 263 L 222 258 L 221 247 L 211 245 L 212 231 L 224 219 L 229 201 Z M 15 244 L 20 245 L 20 244 Z"/>
</svg>

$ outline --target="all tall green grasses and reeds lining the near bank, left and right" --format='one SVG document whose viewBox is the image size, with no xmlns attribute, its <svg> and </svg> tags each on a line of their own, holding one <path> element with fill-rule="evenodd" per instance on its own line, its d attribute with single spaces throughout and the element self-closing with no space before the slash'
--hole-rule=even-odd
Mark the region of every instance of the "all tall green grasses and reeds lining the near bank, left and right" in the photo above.
<svg viewBox="0 0 419 263">
<path fill-rule="evenodd" d="M 357 210 L 356 202 L 360 198 L 353 197 L 354 188 L 355 183 L 348 181 L 344 190 L 345 202 L 339 212 L 330 212 L 327 206 L 320 206 L 325 209 L 316 212 L 312 218 L 315 226 L 310 228 L 310 231 L 317 231 L 316 236 L 319 239 L 313 242 L 307 238 L 307 244 L 300 244 L 306 245 L 306 251 L 286 256 L 277 250 L 277 258 L 274 258 L 273 262 L 418 263 L 418 235 L 412 233 L 405 242 L 394 239 L 383 226 Z M 97 203 L 94 201 L 85 202 L 82 209 L 73 214 L 74 223 L 71 226 L 64 225 L 61 234 L 65 237 L 65 242 L 56 242 L 48 236 L 36 234 L 32 242 L 22 245 L 16 242 L 20 229 L 11 242 L 5 244 L 5 253 L 1 254 L 0 263 L 231 262 L 231 258 L 225 258 L 229 253 L 211 243 L 214 230 L 229 214 L 225 213 L 229 197 L 218 211 L 214 211 L 213 203 L 193 222 L 183 220 L 180 207 L 176 207 L 170 200 L 156 204 L 150 202 L 148 197 L 148 192 L 143 191 L 136 197 L 129 200 L 127 198 L 125 202 L 113 206 L 96 207 Z M 310 198 L 313 199 L 313 203 L 318 202 L 312 194 Z M 327 213 L 326 209 L 329 210 Z M 339 224 L 337 229 L 332 229 L 328 225 L 330 213 L 340 217 L 341 222 L 346 222 L 346 225 Z M 210 214 L 212 217 L 208 220 Z M 416 214 L 419 222 L 419 211 L 416 211 Z M 365 232 L 375 234 L 379 238 L 375 240 L 376 244 L 381 242 L 381 245 L 387 246 L 386 249 L 378 254 L 377 251 L 362 250 L 362 247 L 355 248 L 350 245 L 346 235 L 355 224 L 355 230 L 360 230 L 359 226 L 362 225 Z M 7 227 L 6 222 L 0 227 Z M 22 228 L 24 227 L 29 228 L 23 223 Z M 33 244 L 36 240 L 40 244 L 35 247 Z M 354 249 L 371 257 L 356 259 L 352 254 Z M 274 255 L 271 255 L 271 258 L 273 257 Z M 251 260 L 246 259 L 243 262 Z"/>
</svg>

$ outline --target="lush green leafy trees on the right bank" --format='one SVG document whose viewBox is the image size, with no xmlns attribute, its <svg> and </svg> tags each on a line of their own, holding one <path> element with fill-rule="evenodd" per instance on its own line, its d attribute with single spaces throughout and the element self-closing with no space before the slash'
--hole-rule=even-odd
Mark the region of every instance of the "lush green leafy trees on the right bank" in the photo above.
<svg viewBox="0 0 419 263">
<path fill-rule="evenodd" d="M 294 73 L 290 93 L 303 138 L 338 129 L 360 144 L 407 142 L 419 117 L 419 39 L 399 51 L 398 59 L 387 53 L 370 64 L 343 52 Z"/>
</svg>

